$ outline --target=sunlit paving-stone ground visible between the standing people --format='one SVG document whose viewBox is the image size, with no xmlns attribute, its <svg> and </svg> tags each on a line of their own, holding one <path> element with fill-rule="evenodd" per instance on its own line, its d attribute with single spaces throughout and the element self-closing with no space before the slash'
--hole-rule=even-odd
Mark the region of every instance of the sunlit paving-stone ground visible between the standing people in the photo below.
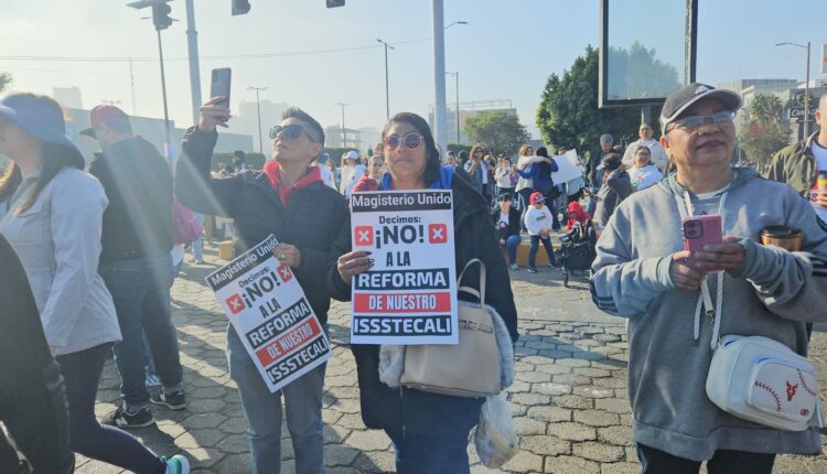
<svg viewBox="0 0 827 474">
<path fill-rule="evenodd" d="M 215 254 L 215 247 L 207 246 L 205 265 L 185 263 L 172 292 L 187 408 L 155 407 L 157 427 L 131 432 L 159 454 L 185 454 L 193 472 L 249 473 L 246 420 L 224 356 L 227 323 L 203 280 L 219 266 Z M 472 472 L 640 472 L 631 441 L 623 321 L 594 309 L 582 276 L 566 289 L 557 270 L 529 274 L 520 269 L 512 271 L 512 287 L 523 335 L 508 400 L 520 452 L 502 471 L 492 471 L 480 465 L 471 443 Z M 358 413 L 355 363 L 347 347 L 348 314 L 346 304 L 333 303 L 334 357 L 327 365 L 323 411 L 325 463 L 331 474 L 393 472 L 390 440 L 384 432 L 367 430 Z M 812 359 L 827 374 L 827 326 L 814 334 Z M 115 409 L 118 384 L 110 360 L 98 392 L 99 417 Z M 820 389 L 825 402 L 826 387 Z M 293 473 L 287 427 L 282 427 L 282 472 Z M 77 472 L 121 471 L 78 456 Z M 783 455 L 775 472 L 825 473 L 827 457 Z"/>
</svg>

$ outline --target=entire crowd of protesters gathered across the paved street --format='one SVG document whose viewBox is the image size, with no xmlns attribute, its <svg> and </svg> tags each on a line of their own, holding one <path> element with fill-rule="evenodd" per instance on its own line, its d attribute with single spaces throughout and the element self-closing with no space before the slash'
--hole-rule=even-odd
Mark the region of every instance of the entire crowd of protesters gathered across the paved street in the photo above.
<svg viewBox="0 0 827 474">
<path fill-rule="evenodd" d="M 659 140 L 648 123 L 625 149 L 605 133 L 578 159 L 582 175 L 555 183 L 566 149 L 525 144 L 513 161 L 477 144 L 443 159 L 427 121 L 411 112 L 388 120 L 369 157 L 347 151 L 337 168 L 321 125 L 290 107 L 270 130 L 272 157 L 261 170 L 236 152 L 232 166 L 214 172 L 217 130 L 232 125 L 222 100 L 201 108 L 174 166 L 132 133 L 122 110 L 96 107 L 82 133 L 100 152 L 87 166 L 53 99 L 0 99 L 0 153 L 11 162 L 0 179 L 0 355 L 25 354 L 0 377 L 0 421 L 14 440 L 0 430 L 0 472 L 68 473 L 79 453 L 137 473 L 187 473 L 184 456 L 159 456 L 122 430 L 153 424 L 153 405 L 186 409 L 170 288 L 181 265 L 175 247 L 195 235 L 180 234 L 204 215 L 232 219 L 236 255 L 275 235 L 273 254 L 326 332 L 331 299 L 348 301 L 354 277 L 374 265 L 351 241 L 348 198 L 364 191 L 452 192 L 457 268 L 484 263 L 481 290 L 512 343 L 519 333 L 509 269 L 519 268 L 523 234 L 536 273 L 540 244 L 549 266 L 560 263 L 552 238 L 563 222 L 566 233 L 600 233 L 591 292 L 600 310 L 629 320 L 633 438 L 644 473 L 697 473 L 704 461 L 710 473 L 771 472 L 777 453 L 819 452 L 814 430 L 741 419 L 713 405 L 705 384 L 721 336 L 761 335 L 806 356 L 806 323 L 825 319 L 827 183 L 817 174 L 827 171 L 827 131 L 782 150 L 774 181 L 761 179 L 732 164 L 740 96 L 692 84 L 666 100 Z M 827 99 L 816 112 L 819 123 L 824 117 Z M 179 219 L 183 230 L 171 218 L 176 205 L 190 212 Z M 723 238 L 687 250 L 681 223 L 701 215 L 720 218 Z M 797 229 L 801 251 L 762 245 L 760 233 L 773 225 Z M 476 281 L 471 267 L 459 284 Z M 710 295 L 710 287 L 718 291 Z M 701 309 L 712 324 L 700 323 Z M 398 472 L 468 473 L 469 433 L 484 399 L 390 388 L 379 378 L 379 346 L 351 351 L 363 421 L 388 434 Z M 95 398 L 112 352 L 122 405 L 100 423 Z M 280 471 L 286 418 L 296 472 L 324 473 L 325 365 L 273 394 L 233 325 L 226 356 L 253 472 Z M 149 374 L 159 380 L 152 392 Z"/>
</svg>

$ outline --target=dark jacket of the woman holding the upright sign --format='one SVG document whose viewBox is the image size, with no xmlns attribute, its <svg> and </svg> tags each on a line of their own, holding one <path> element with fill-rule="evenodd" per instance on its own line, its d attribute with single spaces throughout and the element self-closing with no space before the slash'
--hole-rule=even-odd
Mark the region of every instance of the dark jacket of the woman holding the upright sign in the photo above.
<svg viewBox="0 0 827 474">
<path fill-rule="evenodd" d="M 508 327 L 512 341 L 516 342 L 519 336 L 517 333 L 517 310 L 514 305 L 514 294 L 512 293 L 508 270 L 503 259 L 503 251 L 491 231 L 488 206 L 465 180 L 452 180 L 453 173 L 450 166 L 444 166 L 441 171 L 441 185 L 439 187 L 450 187 L 453 191 L 453 237 L 457 269 L 458 271 L 463 269 L 472 258 L 479 258 L 485 263 L 485 302 L 497 310 Z M 384 184 L 386 183 L 380 184 L 382 187 L 387 188 Z M 340 255 L 351 251 L 350 223 L 342 227 L 335 249 Z M 465 272 L 461 284 L 476 288 L 479 281 L 479 267 L 472 266 Z M 336 300 L 351 300 L 351 287 L 342 281 L 335 267 L 331 268 L 327 276 L 327 288 L 331 297 Z M 464 300 L 471 297 L 463 292 L 459 293 L 459 298 Z M 402 410 L 400 391 L 389 388 L 379 380 L 379 346 L 352 344 L 351 349 L 356 358 L 362 419 L 365 425 L 393 431 L 406 424 L 405 420 L 408 420 L 409 417 L 416 417 L 417 408 L 406 406 L 406 409 Z M 430 398 L 442 400 L 441 402 L 448 405 L 475 400 L 436 395 Z"/>
</svg>

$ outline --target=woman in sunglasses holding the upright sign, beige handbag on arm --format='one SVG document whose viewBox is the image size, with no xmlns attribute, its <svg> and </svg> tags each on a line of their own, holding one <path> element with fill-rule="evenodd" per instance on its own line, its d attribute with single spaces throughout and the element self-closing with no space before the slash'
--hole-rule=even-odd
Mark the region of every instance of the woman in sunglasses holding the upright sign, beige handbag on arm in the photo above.
<svg viewBox="0 0 827 474">
<path fill-rule="evenodd" d="M 517 313 L 503 252 L 491 231 L 487 203 L 450 166 L 440 166 L 439 151 L 428 122 L 418 115 L 401 112 L 383 129 L 388 172 L 379 188 L 451 190 L 453 192 L 454 248 L 457 268 L 473 258 L 485 263 L 486 303 L 494 306 L 517 340 Z M 351 250 L 351 226 L 342 228 L 336 246 L 343 255 L 331 269 L 327 287 L 333 298 L 351 299 L 351 281 L 373 265 L 365 251 Z M 480 273 L 471 267 L 463 284 L 477 286 Z M 464 293 L 460 298 L 468 298 Z M 390 389 L 378 378 L 376 345 L 352 345 L 356 357 L 362 417 L 370 428 L 384 429 L 396 446 L 400 473 L 469 472 L 469 431 L 480 418 L 483 399 L 429 394 L 416 389 Z"/>
</svg>

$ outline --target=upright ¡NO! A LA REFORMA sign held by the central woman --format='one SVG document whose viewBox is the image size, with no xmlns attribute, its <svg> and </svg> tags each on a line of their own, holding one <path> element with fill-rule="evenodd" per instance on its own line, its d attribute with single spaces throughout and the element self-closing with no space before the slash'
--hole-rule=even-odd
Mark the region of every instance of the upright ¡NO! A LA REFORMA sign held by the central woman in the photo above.
<svg viewBox="0 0 827 474">
<path fill-rule="evenodd" d="M 459 344 L 451 191 L 353 193 L 353 249 L 374 267 L 353 278 L 354 344 Z"/>
</svg>

